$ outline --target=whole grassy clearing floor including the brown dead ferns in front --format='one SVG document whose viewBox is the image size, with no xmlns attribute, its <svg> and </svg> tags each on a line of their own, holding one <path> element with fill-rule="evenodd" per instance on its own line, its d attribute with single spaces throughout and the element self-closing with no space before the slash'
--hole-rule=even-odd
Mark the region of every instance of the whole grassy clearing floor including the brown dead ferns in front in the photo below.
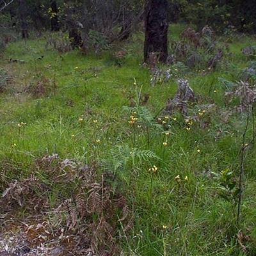
<svg viewBox="0 0 256 256">
<path fill-rule="evenodd" d="M 255 74 L 241 53 L 255 40 L 218 38 L 215 68 L 152 68 L 141 35 L 100 55 L 46 50 L 51 36 L 1 58 L 1 248 L 20 235 L 33 255 L 255 255 Z M 195 92 L 186 116 L 162 112 L 178 78 Z"/>
</svg>

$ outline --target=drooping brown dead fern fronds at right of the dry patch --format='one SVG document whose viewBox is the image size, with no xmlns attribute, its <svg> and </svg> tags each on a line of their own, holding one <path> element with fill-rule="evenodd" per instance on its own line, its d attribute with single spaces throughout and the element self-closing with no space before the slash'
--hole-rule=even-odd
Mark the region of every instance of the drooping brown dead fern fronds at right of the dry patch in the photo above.
<svg viewBox="0 0 256 256">
<path fill-rule="evenodd" d="M 129 205 L 122 194 L 113 191 L 104 175 L 99 179 L 92 169 L 89 173 L 83 173 L 72 198 L 61 203 L 55 212 L 64 216 L 68 229 L 79 234 L 83 230 L 90 237 L 87 243 L 95 255 L 116 255 L 116 229 L 120 223 L 124 232 L 132 227 Z"/>
</svg>

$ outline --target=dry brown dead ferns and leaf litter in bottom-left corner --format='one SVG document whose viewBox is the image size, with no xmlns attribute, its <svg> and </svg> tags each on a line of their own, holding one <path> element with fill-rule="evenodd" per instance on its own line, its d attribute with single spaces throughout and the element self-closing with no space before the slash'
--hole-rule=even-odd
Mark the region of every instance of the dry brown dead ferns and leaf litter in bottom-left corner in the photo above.
<svg viewBox="0 0 256 256">
<path fill-rule="evenodd" d="M 132 218 L 108 176 L 57 155 L 37 159 L 27 179 L 6 184 L 0 255 L 118 255 Z"/>
</svg>

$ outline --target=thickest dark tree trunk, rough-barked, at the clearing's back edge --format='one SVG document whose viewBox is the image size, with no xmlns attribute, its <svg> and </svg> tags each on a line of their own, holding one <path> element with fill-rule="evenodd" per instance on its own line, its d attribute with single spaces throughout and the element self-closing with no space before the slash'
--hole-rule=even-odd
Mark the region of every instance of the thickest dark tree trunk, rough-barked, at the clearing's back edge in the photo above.
<svg viewBox="0 0 256 256">
<path fill-rule="evenodd" d="M 159 61 L 168 57 L 168 1 L 145 0 L 145 41 L 144 61 L 150 53 L 157 55 Z"/>
</svg>

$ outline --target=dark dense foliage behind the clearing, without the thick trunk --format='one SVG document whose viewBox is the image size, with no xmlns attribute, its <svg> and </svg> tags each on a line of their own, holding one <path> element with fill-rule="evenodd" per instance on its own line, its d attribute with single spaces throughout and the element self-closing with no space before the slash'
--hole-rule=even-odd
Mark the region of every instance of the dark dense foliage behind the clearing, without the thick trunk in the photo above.
<svg viewBox="0 0 256 256">
<path fill-rule="evenodd" d="M 146 1 L 147 2 L 147 1 Z M 145 3 L 146 3 L 145 2 Z M 108 1 L 37 1 L 26 0 L 26 15 L 29 31 L 53 29 L 52 23 L 58 23 L 61 30 L 70 29 L 74 22 L 83 24 L 83 33 L 97 31 L 115 40 L 129 35 L 131 29 L 143 20 L 144 1 L 108 0 Z M 195 24 L 197 29 L 211 26 L 218 33 L 228 33 L 230 29 L 239 32 L 255 33 L 255 4 L 252 1 L 177 1 L 169 0 L 168 15 L 170 22 Z M 2 3 L 3 5 L 3 3 Z M 13 1 L 0 13 L 1 31 L 10 34 L 10 30 L 20 29 L 20 1 Z M 54 28 L 54 29 L 56 29 Z M 117 31 L 116 31 L 117 29 Z M 6 36 L 3 35 L 3 39 Z M 14 39 L 14 38 L 9 38 Z"/>
</svg>

